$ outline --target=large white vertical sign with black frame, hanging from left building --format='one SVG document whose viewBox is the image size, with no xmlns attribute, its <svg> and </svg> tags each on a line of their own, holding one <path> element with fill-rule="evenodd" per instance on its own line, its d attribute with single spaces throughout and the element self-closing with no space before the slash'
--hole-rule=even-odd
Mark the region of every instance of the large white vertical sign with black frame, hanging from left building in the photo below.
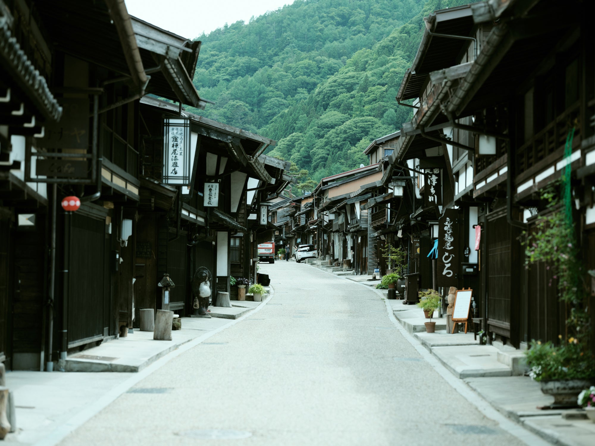
<svg viewBox="0 0 595 446">
<path fill-rule="evenodd" d="M 190 118 L 163 118 L 163 183 L 190 186 Z"/>
</svg>

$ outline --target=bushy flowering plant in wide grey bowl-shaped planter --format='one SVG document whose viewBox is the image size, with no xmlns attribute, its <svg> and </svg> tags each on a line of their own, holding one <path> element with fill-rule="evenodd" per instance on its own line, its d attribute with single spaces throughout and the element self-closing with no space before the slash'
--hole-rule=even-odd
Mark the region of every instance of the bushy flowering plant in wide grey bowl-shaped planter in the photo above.
<svg viewBox="0 0 595 446">
<path fill-rule="evenodd" d="M 595 382 L 593 353 L 576 338 L 560 346 L 533 340 L 525 355 L 531 368 L 529 376 L 539 382 L 544 394 L 554 397 L 554 406 L 574 407 L 578 392 Z"/>
</svg>

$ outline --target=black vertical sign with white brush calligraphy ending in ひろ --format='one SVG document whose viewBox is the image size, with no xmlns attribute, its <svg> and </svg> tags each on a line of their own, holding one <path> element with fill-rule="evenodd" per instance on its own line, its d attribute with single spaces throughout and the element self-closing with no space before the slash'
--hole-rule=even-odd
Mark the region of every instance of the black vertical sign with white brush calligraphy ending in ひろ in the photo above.
<svg viewBox="0 0 595 446">
<path fill-rule="evenodd" d="M 439 220 L 438 286 L 450 287 L 459 273 L 458 211 L 446 209 Z"/>
</svg>

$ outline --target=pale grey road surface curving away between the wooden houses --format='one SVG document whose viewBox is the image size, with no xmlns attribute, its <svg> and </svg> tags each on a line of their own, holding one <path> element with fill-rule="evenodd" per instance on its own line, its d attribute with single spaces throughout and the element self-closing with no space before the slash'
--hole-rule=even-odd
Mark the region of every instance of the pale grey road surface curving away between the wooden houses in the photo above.
<svg viewBox="0 0 595 446">
<path fill-rule="evenodd" d="M 260 267 L 274 287 L 260 311 L 172 359 L 61 444 L 522 444 L 441 378 L 377 293 L 303 263 Z"/>
</svg>

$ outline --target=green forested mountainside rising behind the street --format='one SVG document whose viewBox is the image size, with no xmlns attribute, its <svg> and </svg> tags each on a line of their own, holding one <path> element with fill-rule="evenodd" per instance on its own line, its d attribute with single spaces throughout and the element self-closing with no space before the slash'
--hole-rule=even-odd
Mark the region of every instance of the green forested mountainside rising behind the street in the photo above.
<svg viewBox="0 0 595 446">
<path fill-rule="evenodd" d="M 394 100 L 423 17 L 468 0 L 296 0 L 202 40 L 194 112 L 277 140 L 306 189 L 367 164 L 363 150 L 411 109 Z M 309 183 L 309 184 L 307 184 Z"/>
</svg>

